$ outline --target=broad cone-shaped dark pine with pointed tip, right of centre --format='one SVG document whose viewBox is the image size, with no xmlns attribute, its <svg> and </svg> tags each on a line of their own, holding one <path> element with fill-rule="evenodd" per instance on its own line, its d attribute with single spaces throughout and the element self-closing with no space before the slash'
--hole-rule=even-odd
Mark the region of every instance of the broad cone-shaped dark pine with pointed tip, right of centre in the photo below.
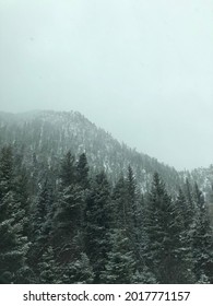
<svg viewBox="0 0 213 306">
<path fill-rule="evenodd" d="M 146 203 L 146 263 L 159 283 L 191 283 L 193 274 L 182 242 L 182 220 L 157 173 Z"/>
</svg>

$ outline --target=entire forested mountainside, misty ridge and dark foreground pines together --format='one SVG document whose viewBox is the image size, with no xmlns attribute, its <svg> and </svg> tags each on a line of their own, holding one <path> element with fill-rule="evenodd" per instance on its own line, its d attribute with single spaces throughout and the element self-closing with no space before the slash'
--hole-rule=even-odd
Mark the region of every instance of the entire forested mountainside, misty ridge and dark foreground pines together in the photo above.
<svg viewBox="0 0 213 306">
<path fill-rule="evenodd" d="M 211 167 L 179 174 L 76 113 L 1 114 L 0 146 L 1 283 L 213 283 Z"/>
</svg>

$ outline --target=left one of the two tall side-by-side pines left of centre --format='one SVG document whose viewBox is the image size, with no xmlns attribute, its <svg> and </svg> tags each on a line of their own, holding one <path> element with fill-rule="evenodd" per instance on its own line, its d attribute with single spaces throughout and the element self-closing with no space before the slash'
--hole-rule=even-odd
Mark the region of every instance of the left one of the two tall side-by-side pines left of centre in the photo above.
<svg viewBox="0 0 213 306">
<path fill-rule="evenodd" d="M 57 260 L 68 264 L 79 256 L 74 239 L 82 232 L 85 209 L 85 191 L 78 181 L 76 165 L 70 152 L 62 160 L 59 175 L 61 180 L 54 204 L 51 236 Z"/>
</svg>

